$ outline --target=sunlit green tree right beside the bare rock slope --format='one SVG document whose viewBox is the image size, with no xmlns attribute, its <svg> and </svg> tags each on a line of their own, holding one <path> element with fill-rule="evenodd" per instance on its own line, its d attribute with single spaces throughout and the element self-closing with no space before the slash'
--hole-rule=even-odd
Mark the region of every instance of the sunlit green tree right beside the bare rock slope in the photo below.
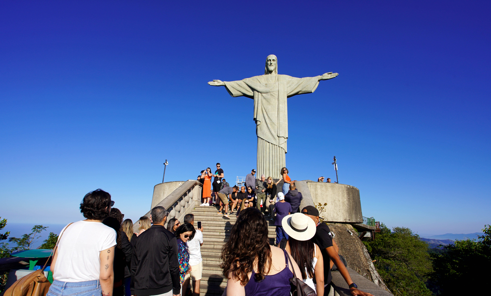
<svg viewBox="0 0 491 296">
<path fill-rule="evenodd" d="M 381 223 L 374 242 L 364 242 L 375 267 L 394 295 L 430 296 L 426 281 L 432 272 L 428 244 L 409 228 L 394 227 L 393 232 Z"/>
</svg>

